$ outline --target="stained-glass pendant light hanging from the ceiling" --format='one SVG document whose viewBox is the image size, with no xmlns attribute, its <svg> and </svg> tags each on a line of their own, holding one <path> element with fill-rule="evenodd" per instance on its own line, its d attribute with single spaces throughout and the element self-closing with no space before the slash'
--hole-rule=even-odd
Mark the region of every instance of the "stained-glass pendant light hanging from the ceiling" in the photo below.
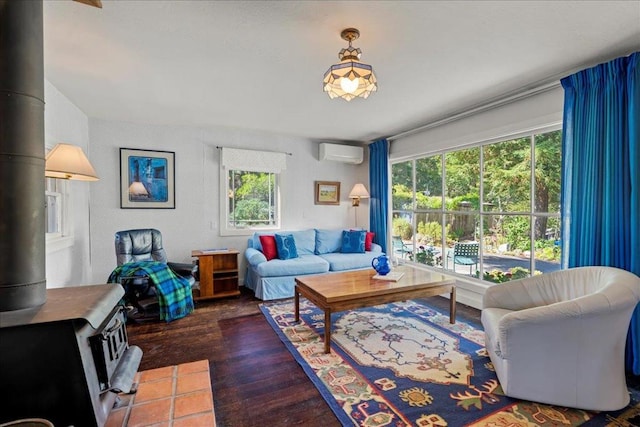
<svg viewBox="0 0 640 427">
<path fill-rule="evenodd" d="M 324 91 L 329 98 L 342 98 L 351 101 L 355 97 L 368 98 L 371 92 L 378 90 L 373 67 L 360 62 L 362 51 L 351 46 L 351 42 L 360 37 L 355 28 L 342 30 L 340 36 L 349 42 L 349 47 L 338 54 L 340 62 L 324 73 Z"/>
</svg>

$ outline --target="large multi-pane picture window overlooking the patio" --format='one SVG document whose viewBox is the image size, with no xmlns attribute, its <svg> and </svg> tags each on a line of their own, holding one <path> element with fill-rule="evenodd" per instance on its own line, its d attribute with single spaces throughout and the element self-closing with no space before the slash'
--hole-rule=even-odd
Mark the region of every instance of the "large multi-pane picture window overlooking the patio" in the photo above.
<svg viewBox="0 0 640 427">
<path fill-rule="evenodd" d="M 393 255 L 491 282 L 560 269 L 560 130 L 392 164 Z"/>
</svg>

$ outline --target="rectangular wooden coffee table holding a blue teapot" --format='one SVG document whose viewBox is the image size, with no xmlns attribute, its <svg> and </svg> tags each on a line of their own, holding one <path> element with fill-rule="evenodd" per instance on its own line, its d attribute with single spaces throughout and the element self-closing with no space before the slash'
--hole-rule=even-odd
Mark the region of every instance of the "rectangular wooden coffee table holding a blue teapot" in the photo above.
<svg viewBox="0 0 640 427">
<path fill-rule="evenodd" d="M 440 273 L 420 270 L 408 265 L 394 272 L 404 275 L 397 282 L 377 280 L 374 270 L 347 271 L 296 277 L 295 320 L 300 321 L 300 295 L 324 311 L 324 352 L 331 342 L 331 313 L 371 307 L 449 293 L 449 321 L 456 323 L 455 280 Z"/>
</svg>

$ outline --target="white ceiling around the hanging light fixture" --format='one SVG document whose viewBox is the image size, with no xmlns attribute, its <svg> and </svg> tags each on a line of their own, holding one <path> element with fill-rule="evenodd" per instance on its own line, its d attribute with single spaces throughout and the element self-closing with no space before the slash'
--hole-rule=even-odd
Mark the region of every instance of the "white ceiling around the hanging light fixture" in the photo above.
<svg viewBox="0 0 640 427">
<path fill-rule="evenodd" d="M 640 0 L 46 0 L 44 23 L 46 78 L 89 117 L 322 141 L 395 135 L 640 50 Z M 378 78 L 366 100 L 322 91 L 347 27 Z"/>
</svg>

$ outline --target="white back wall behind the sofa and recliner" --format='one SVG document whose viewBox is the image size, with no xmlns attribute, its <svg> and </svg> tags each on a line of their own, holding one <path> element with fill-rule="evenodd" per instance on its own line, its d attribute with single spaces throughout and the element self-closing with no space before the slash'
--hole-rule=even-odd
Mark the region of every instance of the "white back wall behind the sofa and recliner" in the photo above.
<svg viewBox="0 0 640 427">
<path fill-rule="evenodd" d="M 107 280 L 116 265 L 114 233 L 132 228 L 162 232 L 171 261 L 191 262 L 191 250 L 246 248 L 247 237 L 219 234 L 219 150 L 216 146 L 290 152 L 282 173 L 282 228 L 352 227 L 348 193 L 356 182 L 368 186 L 368 166 L 319 161 L 315 142 L 238 129 L 139 125 L 90 119 L 90 159 L 100 175 L 91 191 L 92 281 Z M 120 209 L 119 149 L 175 152 L 176 209 Z M 367 150 L 365 150 L 367 151 Z M 314 181 L 340 181 L 340 206 L 314 204 Z M 368 226 L 363 201 L 358 225 Z M 244 276 L 244 257 L 240 256 Z"/>
</svg>

